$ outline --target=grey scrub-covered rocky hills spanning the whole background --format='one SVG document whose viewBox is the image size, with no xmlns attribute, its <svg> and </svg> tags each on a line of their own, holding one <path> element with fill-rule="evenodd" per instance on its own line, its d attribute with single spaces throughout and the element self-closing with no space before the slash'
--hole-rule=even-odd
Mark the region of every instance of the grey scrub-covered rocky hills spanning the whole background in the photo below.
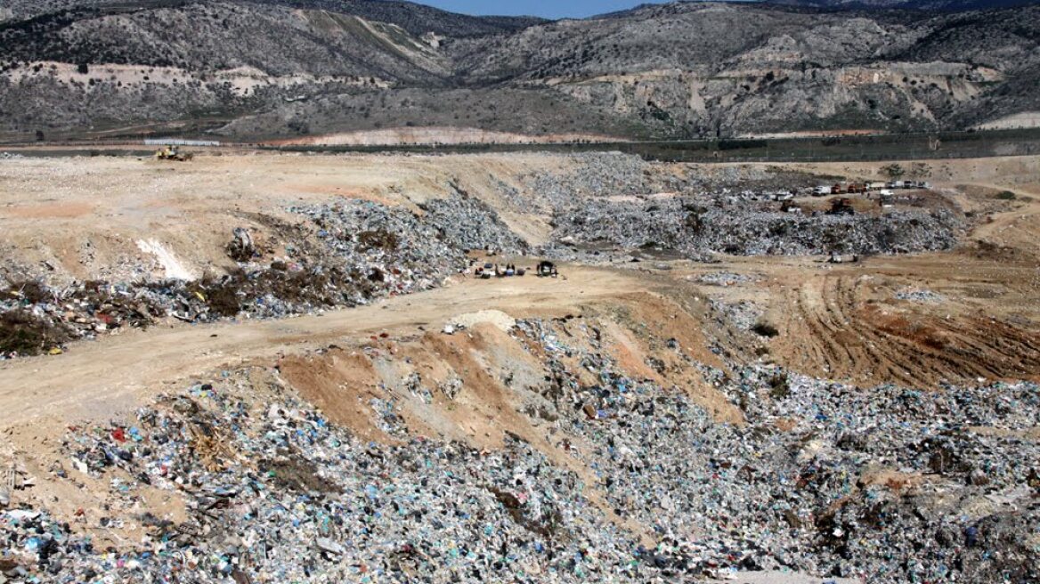
<svg viewBox="0 0 1040 584">
<path fill-rule="evenodd" d="M 372 0 L 5 10 L 11 139 L 141 124 L 249 139 L 414 126 L 727 137 L 959 128 L 1040 109 L 1037 6 L 673 3 L 558 22 Z"/>
</svg>

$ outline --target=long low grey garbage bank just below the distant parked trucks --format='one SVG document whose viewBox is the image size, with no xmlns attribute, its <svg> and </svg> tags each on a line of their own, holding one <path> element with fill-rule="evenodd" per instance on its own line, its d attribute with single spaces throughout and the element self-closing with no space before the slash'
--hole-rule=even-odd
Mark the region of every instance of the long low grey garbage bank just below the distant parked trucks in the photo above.
<svg viewBox="0 0 1040 584">
<path fill-rule="evenodd" d="M 554 237 L 627 249 L 659 246 L 696 258 L 894 254 L 948 249 L 960 221 L 946 210 L 893 211 L 883 216 L 820 215 L 707 208 L 694 197 L 635 202 L 586 200 L 557 211 Z"/>
</svg>

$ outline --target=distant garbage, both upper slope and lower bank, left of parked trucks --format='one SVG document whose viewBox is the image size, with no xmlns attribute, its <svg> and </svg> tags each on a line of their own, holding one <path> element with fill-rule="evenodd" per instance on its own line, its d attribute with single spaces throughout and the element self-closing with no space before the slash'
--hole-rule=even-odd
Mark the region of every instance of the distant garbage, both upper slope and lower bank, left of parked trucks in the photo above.
<svg viewBox="0 0 1040 584">
<path fill-rule="evenodd" d="M 522 191 L 498 193 L 524 212 L 551 215 L 552 241 L 540 253 L 555 259 L 601 263 L 640 249 L 696 261 L 720 253 L 913 253 L 948 249 L 963 228 L 945 209 L 802 212 L 778 202 L 813 178 L 777 168 L 690 167 L 683 175 L 620 153 L 574 155 L 571 162 L 520 177 Z"/>
</svg>

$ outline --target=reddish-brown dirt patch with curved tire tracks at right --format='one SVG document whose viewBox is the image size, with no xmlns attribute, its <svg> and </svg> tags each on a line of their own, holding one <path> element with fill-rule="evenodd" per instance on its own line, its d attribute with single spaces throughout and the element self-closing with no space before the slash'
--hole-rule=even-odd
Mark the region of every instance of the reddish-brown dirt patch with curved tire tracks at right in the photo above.
<svg viewBox="0 0 1040 584">
<path fill-rule="evenodd" d="M 796 371 L 862 384 L 932 387 L 977 377 L 1040 378 L 1040 334 L 936 307 L 890 304 L 857 272 L 814 275 L 779 295 L 773 354 Z M 954 315 L 951 317 L 950 315 Z"/>
</svg>

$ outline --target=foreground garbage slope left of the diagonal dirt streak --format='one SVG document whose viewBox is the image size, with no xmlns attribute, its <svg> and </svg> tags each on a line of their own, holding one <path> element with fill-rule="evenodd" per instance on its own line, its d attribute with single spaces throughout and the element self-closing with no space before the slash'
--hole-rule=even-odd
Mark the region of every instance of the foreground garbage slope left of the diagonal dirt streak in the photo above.
<svg viewBox="0 0 1040 584">
<path fill-rule="evenodd" d="M 363 443 L 292 392 L 257 400 L 246 376 L 163 398 L 134 425 L 64 440 L 59 477 L 107 478 L 127 509 L 142 488 L 179 492 L 187 521 L 135 515 L 147 526 L 139 542 L 99 550 L 43 511 L 0 513 L 6 572 L 16 581 L 271 584 L 640 581 L 656 572 L 572 473 L 520 440 L 494 452 L 422 437 Z M 372 410 L 400 423 L 392 403 L 374 400 Z M 84 521 L 119 521 L 110 514 Z"/>
</svg>

